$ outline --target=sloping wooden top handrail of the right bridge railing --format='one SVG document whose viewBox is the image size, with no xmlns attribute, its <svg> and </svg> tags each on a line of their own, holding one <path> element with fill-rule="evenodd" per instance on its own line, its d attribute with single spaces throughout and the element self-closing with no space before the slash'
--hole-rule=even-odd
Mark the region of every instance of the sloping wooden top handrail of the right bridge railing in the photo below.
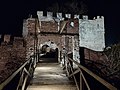
<svg viewBox="0 0 120 90">
<path fill-rule="evenodd" d="M 117 90 L 116 87 L 114 87 L 113 85 L 111 85 L 110 83 L 108 83 L 107 81 L 105 81 L 104 79 L 102 79 L 101 77 L 99 77 L 98 75 L 94 74 L 93 72 L 91 72 L 90 70 L 88 70 L 86 67 L 84 67 L 80 63 L 78 63 L 77 61 L 72 60 L 69 57 L 68 57 L 68 59 L 70 61 L 74 62 L 80 69 L 82 69 L 83 71 L 85 71 L 86 73 L 88 73 L 90 76 L 92 76 L 93 78 L 95 78 L 97 81 L 99 81 L 100 83 L 102 83 L 104 86 L 106 86 L 108 89 L 110 89 L 110 90 Z"/>
</svg>

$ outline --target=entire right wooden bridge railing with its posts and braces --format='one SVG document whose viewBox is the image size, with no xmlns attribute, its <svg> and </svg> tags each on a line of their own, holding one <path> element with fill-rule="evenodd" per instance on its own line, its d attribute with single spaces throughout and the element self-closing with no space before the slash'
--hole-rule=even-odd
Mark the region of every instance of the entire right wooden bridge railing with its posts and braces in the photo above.
<svg viewBox="0 0 120 90">
<path fill-rule="evenodd" d="M 86 67 L 84 67 L 83 65 L 81 65 L 80 63 L 78 63 L 77 61 L 71 59 L 68 57 L 68 55 L 66 56 L 66 60 L 65 60 L 65 68 L 67 71 L 67 76 L 73 77 L 77 90 L 86 90 L 84 89 L 83 85 L 86 85 L 87 90 L 92 90 L 91 86 L 88 83 L 88 80 L 86 79 L 86 75 L 84 74 L 87 73 L 90 77 L 94 78 L 96 81 L 98 81 L 99 83 L 101 83 L 103 86 L 105 86 L 108 90 L 117 90 L 116 87 L 114 87 L 112 84 L 108 83 L 107 81 L 105 81 L 104 79 L 102 79 L 101 77 L 99 77 L 98 75 L 96 75 L 95 73 L 93 73 L 92 71 L 90 71 L 89 69 L 87 69 Z M 74 63 L 75 65 L 78 66 L 77 70 L 73 69 L 72 63 Z M 76 78 L 76 74 L 79 73 L 79 82 L 78 82 L 78 78 Z M 99 89 L 99 87 L 98 87 Z"/>
</svg>

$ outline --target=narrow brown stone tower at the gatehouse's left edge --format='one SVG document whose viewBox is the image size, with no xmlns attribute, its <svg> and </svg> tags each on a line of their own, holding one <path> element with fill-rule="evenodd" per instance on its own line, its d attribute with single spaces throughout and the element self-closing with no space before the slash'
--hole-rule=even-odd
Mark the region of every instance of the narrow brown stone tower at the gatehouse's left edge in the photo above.
<svg viewBox="0 0 120 90">
<path fill-rule="evenodd" d="M 37 44 L 37 20 L 35 18 L 28 18 L 23 22 L 23 38 L 26 44 L 26 58 L 29 58 L 35 53 L 35 46 Z"/>
</svg>

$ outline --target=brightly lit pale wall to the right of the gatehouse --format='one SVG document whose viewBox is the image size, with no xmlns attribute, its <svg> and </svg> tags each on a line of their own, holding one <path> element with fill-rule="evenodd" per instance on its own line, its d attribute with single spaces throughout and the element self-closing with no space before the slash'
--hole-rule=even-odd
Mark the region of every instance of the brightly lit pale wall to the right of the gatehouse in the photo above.
<svg viewBox="0 0 120 90">
<path fill-rule="evenodd" d="M 105 48 L 104 17 L 88 20 L 88 16 L 79 19 L 79 45 L 95 51 Z"/>
</svg>

